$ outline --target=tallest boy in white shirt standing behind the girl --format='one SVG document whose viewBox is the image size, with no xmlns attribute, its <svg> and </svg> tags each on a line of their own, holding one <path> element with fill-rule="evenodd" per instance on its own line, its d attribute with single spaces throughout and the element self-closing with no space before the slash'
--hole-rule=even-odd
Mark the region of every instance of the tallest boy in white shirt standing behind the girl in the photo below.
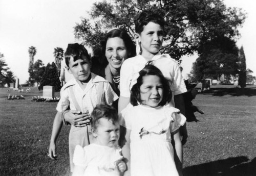
<svg viewBox="0 0 256 176">
<path fill-rule="evenodd" d="M 120 97 L 118 112 L 120 113 L 130 102 L 130 90 L 133 86 L 132 80 L 147 62 L 152 61 L 171 82 L 174 98 L 170 103 L 185 114 L 182 93 L 186 92 L 178 63 L 170 58 L 168 54 L 161 55 L 159 49 L 162 46 L 164 34 L 164 19 L 159 14 L 143 11 L 135 20 L 135 38 L 139 43 L 139 55 L 126 59 L 120 71 Z M 186 142 L 186 126 L 181 127 L 182 143 Z"/>
</svg>

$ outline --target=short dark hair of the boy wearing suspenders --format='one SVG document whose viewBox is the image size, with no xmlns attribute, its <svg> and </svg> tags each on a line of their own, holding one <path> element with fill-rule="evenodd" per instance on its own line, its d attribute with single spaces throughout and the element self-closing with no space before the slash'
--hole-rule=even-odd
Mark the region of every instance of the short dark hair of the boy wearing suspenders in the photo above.
<svg viewBox="0 0 256 176">
<path fill-rule="evenodd" d="M 90 61 L 90 55 L 88 54 L 87 49 L 78 43 L 70 43 L 65 52 L 65 63 L 69 67 L 70 58 L 73 57 L 74 61 L 81 59 L 82 55 L 87 57 L 88 61 Z"/>
</svg>

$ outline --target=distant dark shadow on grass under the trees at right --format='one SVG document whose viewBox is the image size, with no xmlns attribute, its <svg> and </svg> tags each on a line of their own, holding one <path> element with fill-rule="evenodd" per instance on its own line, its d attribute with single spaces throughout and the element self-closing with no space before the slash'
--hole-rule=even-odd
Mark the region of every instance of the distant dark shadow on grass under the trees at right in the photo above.
<svg viewBox="0 0 256 176">
<path fill-rule="evenodd" d="M 211 88 L 210 90 L 205 90 L 203 94 L 211 94 L 212 96 L 255 96 L 256 88 L 245 88 L 244 90 L 241 88 Z"/>
</svg>

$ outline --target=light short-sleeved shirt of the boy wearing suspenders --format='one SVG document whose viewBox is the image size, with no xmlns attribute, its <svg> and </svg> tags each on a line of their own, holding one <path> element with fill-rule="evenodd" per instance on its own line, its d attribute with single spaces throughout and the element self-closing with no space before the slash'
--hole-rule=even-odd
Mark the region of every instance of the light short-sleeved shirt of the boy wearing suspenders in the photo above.
<svg viewBox="0 0 256 176">
<path fill-rule="evenodd" d="M 74 102 L 70 97 L 72 95 L 70 90 L 71 88 L 73 88 L 75 99 L 77 100 L 82 113 L 86 112 L 87 110 L 89 113 L 91 113 L 93 108 L 97 105 L 97 95 L 100 82 L 103 82 L 103 95 L 101 102 L 112 105 L 112 103 L 118 99 L 117 94 L 111 88 L 108 81 L 94 73 L 91 74 L 92 78 L 84 90 L 82 90 L 75 79 L 70 80 L 61 88 L 60 99 L 56 108 L 58 112 L 63 113 L 68 109 L 69 106 L 71 110 L 76 110 Z"/>
</svg>

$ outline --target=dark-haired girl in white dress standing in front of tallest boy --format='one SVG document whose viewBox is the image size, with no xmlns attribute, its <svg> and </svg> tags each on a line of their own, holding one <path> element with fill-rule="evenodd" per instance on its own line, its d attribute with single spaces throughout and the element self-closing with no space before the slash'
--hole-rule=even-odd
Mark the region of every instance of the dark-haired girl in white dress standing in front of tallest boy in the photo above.
<svg viewBox="0 0 256 176">
<path fill-rule="evenodd" d="M 134 77 L 130 99 L 133 107 L 121 112 L 125 175 L 182 175 L 179 127 L 186 118 L 168 104 L 172 97 L 170 85 L 162 72 L 150 64 Z"/>
</svg>

